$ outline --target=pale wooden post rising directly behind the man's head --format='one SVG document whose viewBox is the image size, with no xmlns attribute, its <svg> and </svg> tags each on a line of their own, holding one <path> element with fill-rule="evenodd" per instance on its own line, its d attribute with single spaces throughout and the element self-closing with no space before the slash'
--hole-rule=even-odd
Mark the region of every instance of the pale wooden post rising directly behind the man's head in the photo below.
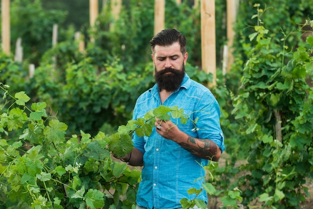
<svg viewBox="0 0 313 209">
<path fill-rule="evenodd" d="M 154 34 L 164 29 L 165 0 L 154 0 Z"/>
</svg>

